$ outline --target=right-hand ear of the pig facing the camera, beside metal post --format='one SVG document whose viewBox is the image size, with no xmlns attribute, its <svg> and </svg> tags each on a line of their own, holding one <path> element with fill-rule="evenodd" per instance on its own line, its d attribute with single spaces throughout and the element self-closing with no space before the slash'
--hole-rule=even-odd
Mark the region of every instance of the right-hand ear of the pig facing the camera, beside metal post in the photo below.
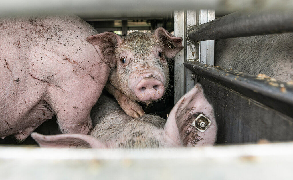
<svg viewBox="0 0 293 180">
<path fill-rule="evenodd" d="M 163 27 L 159 27 L 154 31 L 154 36 L 159 38 L 164 44 L 164 53 L 168 58 L 174 56 L 183 49 L 182 37 L 176 37 Z"/>
</svg>

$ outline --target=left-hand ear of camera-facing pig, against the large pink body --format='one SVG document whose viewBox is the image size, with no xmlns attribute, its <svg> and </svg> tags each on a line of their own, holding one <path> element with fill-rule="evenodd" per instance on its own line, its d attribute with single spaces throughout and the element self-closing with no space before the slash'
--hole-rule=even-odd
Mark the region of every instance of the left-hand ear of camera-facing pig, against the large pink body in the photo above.
<svg viewBox="0 0 293 180">
<path fill-rule="evenodd" d="M 100 58 L 111 68 L 115 65 L 113 60 L 114 50 L 122 38 L 113 32 L 103 32 L 86 38 L 97 50 Z"/>
</svg>

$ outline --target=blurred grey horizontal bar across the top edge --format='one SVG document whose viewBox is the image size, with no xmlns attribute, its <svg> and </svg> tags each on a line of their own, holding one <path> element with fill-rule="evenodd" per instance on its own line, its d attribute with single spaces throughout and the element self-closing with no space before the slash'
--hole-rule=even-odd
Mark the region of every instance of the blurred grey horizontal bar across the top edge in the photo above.
<svg viewBox="0 0 293 180">
<path fill-rule="evenodd" d="M 47 13 L 74 13 L 81 18 L 162 17 L 174 9 L 215 9 L 226 14 L 253 7 L 292 9 L 288 0 L 10 0 L 1 1 L 0 16 Z"/>
</svg>

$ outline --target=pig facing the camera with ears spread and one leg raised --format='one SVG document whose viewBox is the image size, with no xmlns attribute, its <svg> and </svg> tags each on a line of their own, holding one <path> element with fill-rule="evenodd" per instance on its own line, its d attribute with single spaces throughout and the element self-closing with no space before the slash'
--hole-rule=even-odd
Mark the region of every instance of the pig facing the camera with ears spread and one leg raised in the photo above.
<svg viewBox="0 0 293 180">
<path fill-rule="evenodd" d="M 161 27 L 152 33 L 133 32 L 126 37 L 105 32 L 88 37 L 88 41 L 102 59 L 113 61 L 106 89 L 132 117 L 144 115 L 137 102 L 149 104 L 163 98 L 169 82 L 166 58 L 183 49 L 182 38 Z"/>
</svg>

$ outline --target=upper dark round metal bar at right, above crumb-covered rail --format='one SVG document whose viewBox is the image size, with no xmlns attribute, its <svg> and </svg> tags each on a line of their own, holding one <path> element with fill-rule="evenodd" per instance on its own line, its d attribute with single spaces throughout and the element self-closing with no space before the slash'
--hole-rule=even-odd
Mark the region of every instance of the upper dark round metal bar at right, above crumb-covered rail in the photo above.
<svg viewBox="0 0 293 180">
<path fill-rule="evenodd" d="M 293 11 L 237 11 L 191 27 L 188 38 L 204 41 L 293 31 Z"/>
</svg>

